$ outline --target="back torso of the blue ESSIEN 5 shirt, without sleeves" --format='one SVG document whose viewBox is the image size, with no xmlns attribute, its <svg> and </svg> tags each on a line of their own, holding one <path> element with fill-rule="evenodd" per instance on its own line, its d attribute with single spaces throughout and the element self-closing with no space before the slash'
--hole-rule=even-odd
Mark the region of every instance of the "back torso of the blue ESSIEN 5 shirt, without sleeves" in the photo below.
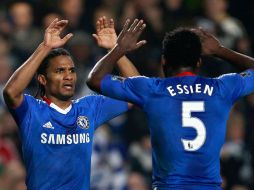
<svg viewBox="0 0 254 190">
<path fill-rule="evenodd" d="M 151 131 L 155 187 L 219 188 L 219 153 L 234 102 L 229 91 L 221 79 L 154 80 L 144 110 Z"/>
</svg>

